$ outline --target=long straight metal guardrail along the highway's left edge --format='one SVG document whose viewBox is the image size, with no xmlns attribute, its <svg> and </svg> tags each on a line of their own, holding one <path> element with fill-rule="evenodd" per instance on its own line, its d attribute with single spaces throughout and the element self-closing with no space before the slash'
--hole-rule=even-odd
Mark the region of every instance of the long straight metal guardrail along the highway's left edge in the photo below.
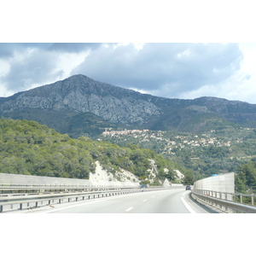
<svg viewBox="0 0 256 256">
<path fill-rule="evenodd" d="M 95 188 L 96 189 L 96 188 Z M 26 194 L 16 194 L 16 195 L 7 195 L 2 194 L 0 196 L 0 212 L 7 212 L 12 210 L 22 210 L 24 208 L 37 208 L 41 206 L 50 206 L 55 203 L 61 204 L 62 202 L 71 202 L 71 201 L 84 201 L 92 198 L 100 198 L 111 195 L 124 195 L 130 193 L 138 193 L 143 191 L 152 191 L 152 190 L 162 190 L 162 189 L 171 189 L 171 188 L 149 188 L 149 189 L 105 189 L 103 191 L 86 191 L 86 192 L 62 192 L 62 193 L 48 193 L 42 194 L 38 193 L 37 195 L 26 195 Z"/>
</svg>

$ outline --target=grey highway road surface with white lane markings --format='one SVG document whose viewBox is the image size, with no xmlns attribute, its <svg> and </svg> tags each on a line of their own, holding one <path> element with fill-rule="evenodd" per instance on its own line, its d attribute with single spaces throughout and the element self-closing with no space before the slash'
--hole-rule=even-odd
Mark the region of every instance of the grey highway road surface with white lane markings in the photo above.
<svg viewBox="0 0 256 256">
<path fill-rule="evenodd" d="M 141 193 L 55 204 L 38 213 L 209 213 L 192 201 L 189 193 L 185 189 L 144 189 Z"/>
</svg>

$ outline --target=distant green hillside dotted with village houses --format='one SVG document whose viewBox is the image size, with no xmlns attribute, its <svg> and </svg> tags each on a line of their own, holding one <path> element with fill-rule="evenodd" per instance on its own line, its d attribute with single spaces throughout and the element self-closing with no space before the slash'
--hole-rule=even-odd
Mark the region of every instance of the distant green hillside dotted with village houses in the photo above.
<svg viewBox="0 0 256 256">
<path fill-rule="evenodd" d="M 104 141 L 126 143 L 154 150 L 192 170 L 195 178 L 216 173 L 238 172 L 239 166 L 256 157 L 256 130 L 226 126 L 204 133 L 177 131 L 104 131 Z"/>
</svg>

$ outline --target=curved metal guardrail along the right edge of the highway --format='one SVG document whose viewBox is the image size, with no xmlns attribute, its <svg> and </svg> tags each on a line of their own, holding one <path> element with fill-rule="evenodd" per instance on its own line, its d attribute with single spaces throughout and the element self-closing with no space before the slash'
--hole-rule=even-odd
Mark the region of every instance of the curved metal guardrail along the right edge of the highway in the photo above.
<svg viewBox="0 0 256 256">
<path fill-rule="evenodd" d="M 215 205 L 215 207 L 219 208 L 223 212 L 230 212 L 231 210 L 235 213 L 256 213 L 256 207 L 254 207 L 256 195 L 233 194 L 205 189 L 193 189 L 191 192 L 195 200 L 199 199 L 213 207 Z M 245 197 L 250 197 L 250 205 L 243 203 L 245 201 Z"/>
</svg>

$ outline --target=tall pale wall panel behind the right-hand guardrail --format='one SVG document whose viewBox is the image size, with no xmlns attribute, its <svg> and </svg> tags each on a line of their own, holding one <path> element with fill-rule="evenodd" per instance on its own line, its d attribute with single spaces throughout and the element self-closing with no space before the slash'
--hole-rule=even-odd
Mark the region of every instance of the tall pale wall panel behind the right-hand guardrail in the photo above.
<svg viewBox="0 0 256 256">
<path fill-rule="evenodd" d="M 235 193 L 235 173 L 230 172 L 203 178 L 194 183 L 194 189 L 208 189 L 218 192 Z"/>
</svg>

